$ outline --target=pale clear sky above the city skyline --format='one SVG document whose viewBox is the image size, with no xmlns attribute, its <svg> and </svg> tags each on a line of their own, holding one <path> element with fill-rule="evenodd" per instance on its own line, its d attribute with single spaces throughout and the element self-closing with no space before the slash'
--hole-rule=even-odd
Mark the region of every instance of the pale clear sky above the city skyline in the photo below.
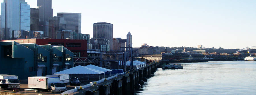
<svg viewBox="0 0 256 95">
<path fill-rule="evenodd" d="M 3 0 L 1 0 L 3 2 Z M 26 0 L 36 8 L 36 0 Z M 256 46 L 256 0 L 52 0 L 57 13 L 81 13 L 82 33 L 113 24 L 113 38 L 132 34 L 133 47 L 245 48 Z"/>
</svg>

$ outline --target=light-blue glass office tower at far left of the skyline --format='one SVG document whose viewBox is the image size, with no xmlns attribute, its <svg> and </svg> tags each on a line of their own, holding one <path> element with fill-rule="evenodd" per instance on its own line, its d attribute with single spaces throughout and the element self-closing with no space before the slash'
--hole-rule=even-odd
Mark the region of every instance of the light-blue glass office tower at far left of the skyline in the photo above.
<svg viewBox="0 0 256 95">
<path fill-rule="evenodd" d="M 30 30 L 30 5 L 25 0 L 1 3 L 1 40 L 12 39 L 13 30 Z"/>
</svg>

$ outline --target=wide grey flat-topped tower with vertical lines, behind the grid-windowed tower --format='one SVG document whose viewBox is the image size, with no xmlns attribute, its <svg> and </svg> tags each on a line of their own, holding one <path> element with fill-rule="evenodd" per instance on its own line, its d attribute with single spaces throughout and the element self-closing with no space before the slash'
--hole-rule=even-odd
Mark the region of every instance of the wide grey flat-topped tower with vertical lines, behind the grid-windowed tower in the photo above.
<svg viewBox="0 0 256 95">
<path fill-rule="evenodd" d="M 81 13 L 57 13 L 67 22 L 67 30 L 72 30 L 76 33 L 81 33 Z"/>
</svg>

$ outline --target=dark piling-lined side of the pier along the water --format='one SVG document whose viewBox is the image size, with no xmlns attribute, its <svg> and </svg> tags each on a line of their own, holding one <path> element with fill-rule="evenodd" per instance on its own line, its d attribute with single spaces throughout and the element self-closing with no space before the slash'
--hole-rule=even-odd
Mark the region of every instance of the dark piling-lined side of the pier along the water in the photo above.
<svg viewBox="0 0 256 95">
<path fill-rule="evenodd" d="M 145 67 L 126 71 L 123 75 L 104 80 L 99 84 L 78 89 L 77 92 L 68 95 L 129 95 L 134 94 L 136 89 L 140 88 L 144 82 L 155 72 L 159 63 L 148 63 Z"/>
</svg>

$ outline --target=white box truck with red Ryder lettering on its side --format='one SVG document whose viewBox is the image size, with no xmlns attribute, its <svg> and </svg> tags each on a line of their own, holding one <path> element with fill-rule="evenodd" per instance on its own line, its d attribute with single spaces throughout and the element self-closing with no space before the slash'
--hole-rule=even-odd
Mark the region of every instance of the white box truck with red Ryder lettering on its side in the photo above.
<svg viewBox="0 0 256 95">
<path fill-rule="evenodd" d="M 48 90 L 48 91 L 66 91 L 66 84 L 60 82 L 59 77 L 28 77 L 28 88 Z"/>
</svg>

